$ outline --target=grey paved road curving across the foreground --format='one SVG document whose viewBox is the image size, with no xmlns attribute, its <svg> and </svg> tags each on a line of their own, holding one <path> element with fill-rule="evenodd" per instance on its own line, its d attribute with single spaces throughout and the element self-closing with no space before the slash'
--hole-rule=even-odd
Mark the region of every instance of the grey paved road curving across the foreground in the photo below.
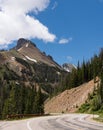
<svg viewBox="0 0 103 130">
<path fill-rule="evenodd" d="M 2 121 L 0 130 L 103 130 L 103 124 L 90 120 L 91 116 L 66 114 L 21 121 Z"/>
</svg>

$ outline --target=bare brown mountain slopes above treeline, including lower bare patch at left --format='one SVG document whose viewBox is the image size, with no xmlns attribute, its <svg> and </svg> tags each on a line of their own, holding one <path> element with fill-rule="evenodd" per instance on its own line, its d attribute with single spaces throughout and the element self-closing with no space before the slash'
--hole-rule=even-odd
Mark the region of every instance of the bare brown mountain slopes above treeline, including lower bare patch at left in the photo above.
<svg viewBox="0 0 103 130">
<path fill-rule="evenodd" d="M 23 62 L 29 64 L 45 64 L 50 67 L 62 69 L 51 56 L 46 56 L 45 53 L 42 53 L 34 43 L 26 39 L 19 39 L 17 41 L 17 46 L 11 49 L 10 51 L 0 52 L 0 63 L 8 63 L 9 67 L 17 72 L 21 73 L 21 70 L 26 68 L 25 65 L 18 61 L 18 58 Z M 16 71 L 17 70 L 17 71 Z"/>
</svg>

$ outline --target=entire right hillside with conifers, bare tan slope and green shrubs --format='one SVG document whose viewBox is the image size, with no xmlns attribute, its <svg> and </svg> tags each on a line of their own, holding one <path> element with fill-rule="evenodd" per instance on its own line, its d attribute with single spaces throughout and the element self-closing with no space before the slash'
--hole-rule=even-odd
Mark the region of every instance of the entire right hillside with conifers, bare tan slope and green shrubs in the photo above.
<svg viewBox="0 0 103 130">
<path fill-rule="evenodd" d="M 78 110 L 79 109 L 79 110 Z M 68 74 L 45 102 L 45 112 L 103 113 L 103 49 L 89 61 L 83 61 Z"/>
</svg>

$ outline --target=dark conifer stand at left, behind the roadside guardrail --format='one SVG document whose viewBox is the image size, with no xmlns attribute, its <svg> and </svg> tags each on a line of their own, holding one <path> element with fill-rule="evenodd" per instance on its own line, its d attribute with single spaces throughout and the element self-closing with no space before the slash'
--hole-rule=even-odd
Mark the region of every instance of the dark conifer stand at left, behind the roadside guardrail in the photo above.
<svg viewBox="0 0 103 130">
<path fill-rule="evenodd" d="M 3 85 L 4 84 L 4 85 Z M 0 81 L 0 118 L 13 114 L 42 114 L 44 95 L 41 89 L 25 87 L 23 84 Z"/>
</svg>

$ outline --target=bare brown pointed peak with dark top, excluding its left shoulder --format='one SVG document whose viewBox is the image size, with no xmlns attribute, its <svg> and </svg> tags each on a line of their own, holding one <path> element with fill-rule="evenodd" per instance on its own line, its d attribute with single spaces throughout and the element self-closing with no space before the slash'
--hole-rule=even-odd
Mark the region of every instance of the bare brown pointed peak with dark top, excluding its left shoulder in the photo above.
<svg viewBox="0 0 103 130">
<path fill-rule="evenodd" d="M 34 62 L 42 62 L 49 66 L 60 67 L 50 56 L 46 56 L 37 47 L 36 44 L 26 39 L 19 39 L 17 46 L 13 48 L 19 54 L 23 56 L 25 60 L 31 60 Z M 33 60 L 34 59 L 34 60 Z"/>
</svg>

